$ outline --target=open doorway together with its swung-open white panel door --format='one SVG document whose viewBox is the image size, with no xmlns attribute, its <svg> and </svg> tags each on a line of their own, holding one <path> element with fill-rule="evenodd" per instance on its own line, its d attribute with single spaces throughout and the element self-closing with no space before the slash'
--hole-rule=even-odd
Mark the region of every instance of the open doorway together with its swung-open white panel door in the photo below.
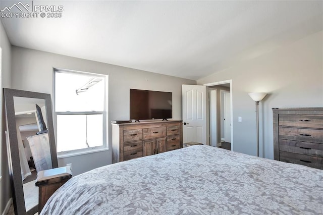
<svg viewBox="0 0 323 215">
<path fill-rule="evenodd" d="M 218 147 L 223 147 L 222 143 L 226 143 L 221 139 L 221 89 L 230 92 L 227 94 L 227 101 L 230 101 L 227 104 L 230 107 L 230 114 L 227 114 L 230 117 L 227 118 L 230 122 L 227 136 L 231 143 L 227 149 L 233 150 L 232 80 L 204 85 L 182 85 L 183 142 L 193 141 Z M 215 99 L 214 102 L 212 98 Z"/>
</svg>

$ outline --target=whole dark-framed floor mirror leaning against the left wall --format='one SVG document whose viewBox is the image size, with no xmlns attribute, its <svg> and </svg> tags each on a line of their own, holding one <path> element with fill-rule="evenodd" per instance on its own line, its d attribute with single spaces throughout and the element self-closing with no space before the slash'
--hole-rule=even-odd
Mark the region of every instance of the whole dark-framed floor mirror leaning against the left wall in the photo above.
<svg viewBox="0 0 323 215">
<path fill-rule="evenodd" d="M 15 214 L 38 211 L 37 173 L 58 167 L 50 94 L 4 88 Z"/>
</svg>

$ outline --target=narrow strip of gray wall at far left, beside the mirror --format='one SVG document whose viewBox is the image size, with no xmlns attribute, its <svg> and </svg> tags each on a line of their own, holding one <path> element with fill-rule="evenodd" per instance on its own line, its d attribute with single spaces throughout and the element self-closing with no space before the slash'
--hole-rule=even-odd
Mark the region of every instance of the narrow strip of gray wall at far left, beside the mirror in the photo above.
<svg viewBox="0 0 323 215">
<path fill-rule="evenodd" d="M 4 26 L 0 21 L 0 47 L 2 49 L 2 63 L 0 68 L 0 138 L 1 138 L 1 147 L 0 147 L 0 168 L 2 179 L 0 181 L 0 213 L 2 214 L 9 199 L 11 198 L 11 185 L 9 179 L 9 170 L 7 162 L 7 147 L 6 147 L 6 137 L 5 137 L 5 128 L 6 128 L 6 117 L 4 109 L 4 99 L 3 99 L 3 87 L 10 88 L 11 83 L 11 45 L 8 39 L 8 36 L 5 32 Z"/>
</svg>

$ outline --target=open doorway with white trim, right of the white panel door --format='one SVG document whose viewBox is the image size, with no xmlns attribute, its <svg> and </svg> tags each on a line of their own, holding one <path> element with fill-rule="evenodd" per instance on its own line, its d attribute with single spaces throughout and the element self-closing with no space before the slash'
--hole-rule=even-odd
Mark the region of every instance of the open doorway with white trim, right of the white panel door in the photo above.
<svg viewBox="0 0 323 215">
<path fill-rule="evenodd" d="M 232 80 L 205 85 L 209 88 L 210 98 L 208 121 L 210 145 L 233 150 Z M 216 101 L 214 102 L 212 99 Z M 214 134 L 214 127 L 216 127 L 216 134 Z M 216 140 L 214 140 L 214 136 L 216 136 Z"/>
</svg>

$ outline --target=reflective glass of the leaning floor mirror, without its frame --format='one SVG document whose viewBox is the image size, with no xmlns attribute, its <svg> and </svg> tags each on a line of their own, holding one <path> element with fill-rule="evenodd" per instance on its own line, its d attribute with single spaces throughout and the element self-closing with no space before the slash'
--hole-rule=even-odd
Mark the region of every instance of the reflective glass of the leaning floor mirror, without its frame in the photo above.
<svg viewBox="0 0 323 215">
<path fill-rule="evenodd" d="M 38 204 L 37 173 L 52 168 L 45 99 L 14 96 L 26 211 Z"/>
</svg>

